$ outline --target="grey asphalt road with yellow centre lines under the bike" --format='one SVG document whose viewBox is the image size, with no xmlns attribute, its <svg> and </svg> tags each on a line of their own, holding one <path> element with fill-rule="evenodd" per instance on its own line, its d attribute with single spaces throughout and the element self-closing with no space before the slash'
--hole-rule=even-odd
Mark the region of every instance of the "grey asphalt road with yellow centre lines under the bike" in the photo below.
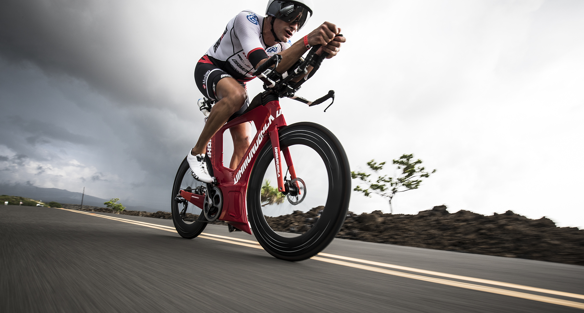
<svg viewBox="0 0 584 313">
<path fill-rule="evenodd" d="M 287 262 L 251 235 L 204 233 L 188 240 L 171 220 L 0 207 L 0 312 L 584 309 L 583 266 L 345 239 Z"/>
</svg>

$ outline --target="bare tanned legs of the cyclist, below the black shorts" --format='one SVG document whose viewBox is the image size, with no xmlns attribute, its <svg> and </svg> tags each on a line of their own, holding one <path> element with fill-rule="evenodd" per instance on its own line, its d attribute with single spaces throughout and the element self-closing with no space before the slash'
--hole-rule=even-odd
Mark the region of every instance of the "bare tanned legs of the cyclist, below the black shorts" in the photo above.
<svg viewBox="0 0 584 313">
<path fill-rule="evenodd" d="M 215 103 L 213 106 L 213 110 L 211 110 L 211 114 L 207 119 L 207 123 L 203 127 L 203 131 L 199 136 L 199 140 L 197 144 L 192 149 L 191 153 L 193 155 L 197 154 L 204 154 L 207 150 L 207 142 L 211 140 L 211 137 L 225 124 L 229 117 L 241 109 L 241 106 L 244 105 L 245 99 L 247 99 L 247 93 L 245 89 L 239 85 L 239 83 L 231 78 L 225 77 L 221 79 L 217 86 L 215 86 L 215 93 L 217 94 L 218 102 Z M 244 123 L 246 124 L 246 123 Z M 238 126 L 232 127 L 237 128 Z M 241 129 L 239 129 L 241 128 Z M 245 150 L 249 146 L 249 139 L 248 136 L 242 133 L 245 131 L 244 127 L 239 127 L 235 129 L 235 131 L 231 130 L 232 137 L 234 137 L 234 152 L 233 155 L 240 155 L 239 159 L 244 155 Z M 236 144 L 236 137 L 237 137 L 237 144 Z M 244 141 L 248 141 L 245 148 Z M 242 151 L 243 150 L 243 151 Z M 233 164 L 233 157 L 231 158 L 231 164 Z M 235 166 L 237 166 L 237 162 L 235 162 Z M 234 168 L 230 164 L 231 168 Z"/>
</svg>

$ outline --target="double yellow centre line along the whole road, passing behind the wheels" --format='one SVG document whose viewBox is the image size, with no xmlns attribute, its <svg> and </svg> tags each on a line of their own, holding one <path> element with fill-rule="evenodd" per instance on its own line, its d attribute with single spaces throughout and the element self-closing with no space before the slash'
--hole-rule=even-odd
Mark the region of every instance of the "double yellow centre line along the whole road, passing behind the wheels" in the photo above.
<svg viewBox="0 0 584 313">
<path fill-rule="evenodd" d="M 107 218 L 109 220 L 127 222 L 129 224 L 140 225 L 140 226 L 145 226 L 145 227 L 150 227 L 150 228 L 156 228 L 156 229 L 160 229 L 163 231 L 176 232 L 176 229 L 174 227 L 169 227 L 169 226 L 165 226 L 165 225 L 158 225 L 158 224 L 152 224 L 152 223 L 147 223 L 147 222 L 127 220 L 125 218 L 110 217 L 110 216 L 101 215 L 101 214 L 88 213 L 88 212 L 76 211 L 76 210 L 69 210 L 66 208 L 62 208 L 61 210 L 67 210 L 67 211 L 71 211 L 71 212 L 75 212 L 75 213 L 93 215 L 96 217 Z M 225 242 L 227 244 L 247 246 L 249 248 L 263 249 L 262 246 L 260 246 L 257 241 L 248 240 L 248 239 L 239 239 L 239 238 L 234 238 L 234 237 L 207 234 L 205 232 L 201 233 L 201 235 L 199 235 L 199 238 L 221 241 L 221 242 Z M 325 258 L 323 258 L 323 257 L 325 257 Z M 566 307 L 584 309 L 583 302 L 564 300 L 561 298 L 548 297 L 548 296 L 539 295 L 539 294 L 524 293 L 522 291 L 509 290 L 509 289 L 497 288 L 497 287 L 492 287 L 492 286 L 506 287 L 506 288 L 512 288 L 512 289 L 525 290 L 525 291 L 533 291 L 535 293 L 544 293 L 544 294 L 550 294 L 550 295 L 557 295 L 560 297 L 568 297 L 568 298 L 576 298 L 576 299 L 584 300 L 584 295 L 582 295 L 582 294 L 565 293 L 563 291 L 530 287 L 530 286 L 523 286 L 523 285 L 512 284 L 512 283 L 505 283 L 503 281 L 479 279 L 479 278 L 475 278 L 475 277 L 460 276 L 460 275 L 448 274 L 448 273 L 442 273 L 442 272 L 434 272 L 432 270 L 416 269 L 415 267 L 407 267 L 407 266 L 393 265 L 393 264 L 375 262 L 375 261 L 364 260 L 364 259 L 349 258 L 348 256 L 333 255 L 330 253 L 322 253 L 321 252 L 321 253 L 318 253 L 318 256 L 313 256 L 311 259 L 321 261 L 321 262 L 332 263 L 332 264 L 336 264 L 336 265 L 353 267 L 356 269 L 369 270 L 371 272 L 377 272 L 377 273 L 383 273 L 383 274 L 388 274 L 388 275 L 393 275 L 393 276 L 405 277 L 405 278 L 409 278 L 409 279 L 429 281 L 430 283 L 443 284 L 443 285 L 447 285 L 447 286 L 454 286 L 454 287 L 466 288 L 466 289 L 471 289 L 471 290 L 485 291 L 485 292 L 493 293 L 493 294 L 509 295 L 511 297 L 517 297 L 517 298 L 523 298 L 523 299 L 528 299 L 528 300 L 547 302 L 547 303 L 551 303 L 551 304 L 564 305 Z M 394 270 L 389 270 L 388 268 L 394 269 Z M 404 271 L 404 272 L 400 272 L 400 271 Z M 419 274 L 412 274 L 412 273 L 408 273 L 408 272 L 425 274 L 426 276 L 419 275 Z M 443 278 L 438 278 L 438 277 L 446 277 L 446 278 L 454 279 L 454 280 L 443 279 Z M 460 281 L 460 280 L 463 280 L 463 281 Z M 479 284 L 471 284 L 471 283 L 467 283 L 464 281 L 471 281 L 473 283 L 479 283 Z M 491 285 L 491 286 L 485 286 L 485 285 Z"/>
</svg>

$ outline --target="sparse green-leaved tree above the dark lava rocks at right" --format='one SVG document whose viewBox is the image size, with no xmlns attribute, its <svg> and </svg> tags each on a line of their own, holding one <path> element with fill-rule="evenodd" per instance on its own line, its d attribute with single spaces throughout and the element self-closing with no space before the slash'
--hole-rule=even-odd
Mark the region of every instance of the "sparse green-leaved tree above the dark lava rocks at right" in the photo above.
<svg viewBox="0 0 584 313">
<path fill-rule="evenodd" d="M 393 160 L 393 164 L 397 164 L 398 170 L 401 169 L 399 176 L 392 178 L 387 175 L 380 175 L 376 180 L 371 180 L 369 176 L 372 173 L 377 174 L 381 171 L 385 162 L 379 164 L 375 160 L 367 162 L 367 166 L 372 173 L 351 172 L 351 177 L 361 180 L 364 185 L 364 187 L 357 185 L 353 190 L 363 193 L 366 197 L 371 197 L 371 192 L 374 192 L 387 198 L 390 202 L 390 212 L 393 214 L 394 208 L 391 206 L 391 200 L 394 199 L 396 193 L 418 189 L 420 183 L 422 183 L 422 178 L 429 178 L 430 174 L 436 172 L 435 169 L 432 172 L 426 172 L 425 168 L 419 166 L 422 164 L 422 160 L 418 159 L 412 162 L 412 159 L 413 154 L 404 154 L 399 159 Z"/>
</svg>

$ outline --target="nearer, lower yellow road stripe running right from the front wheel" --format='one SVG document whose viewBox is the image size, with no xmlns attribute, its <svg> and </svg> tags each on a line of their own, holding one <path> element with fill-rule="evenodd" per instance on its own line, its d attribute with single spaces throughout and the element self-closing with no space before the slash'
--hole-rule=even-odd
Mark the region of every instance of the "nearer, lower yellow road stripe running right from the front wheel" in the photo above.
<svg viewBox="0 0 584 313">
<path fill-rule="evenodd" d="M 430 281 L 431 283 L 467 288 L 467 289 L 471 289 L 471 290 L 485 291 L 485 292 L 494 293 L 494 294 L 510 295 L 512 297 L 517 297 L 517 298 L 524 298 L 524 299 L 535 300 L 535 301 L 540 301 L 540 302 L 565 305 L 566 307 L 584 309 L 584 303 L 582 303 L 582 302 L 575 302 L 575 301 L 562 300 L 562 299 L 558 299 L 558 298 L 545 297 L 544 295 L 522 293 L 520 291 L 506 290 L 506 289 L 495 288 L 495 287 L 462 283 L 460 281 L 454 281 L 454 280 L 447 280 L 447 279 L 427 277 L 427 276 L 421 276 L 421 275 L 404 273 L 404 272 L 397 272 L 395 270 L 381 269 L 380 267 L 361 265 L 361 264 L 350 263 L 350 262 L 345 262 L 345 261 L 341 261 L 341 260 L 326 259 L 326 258 L 321 258 L 319 256 L 313 256 L 312 259 L 319 260 L 322 262 L 328 262 L 328 263 L 348 266 L 348 267 L 354 267 L 356 269 L 370 270 L 371 272 L 390 274 L 390 275 L 406 277 L 406 278 L 410 278 L 410 279 Z"/>
</svg>

